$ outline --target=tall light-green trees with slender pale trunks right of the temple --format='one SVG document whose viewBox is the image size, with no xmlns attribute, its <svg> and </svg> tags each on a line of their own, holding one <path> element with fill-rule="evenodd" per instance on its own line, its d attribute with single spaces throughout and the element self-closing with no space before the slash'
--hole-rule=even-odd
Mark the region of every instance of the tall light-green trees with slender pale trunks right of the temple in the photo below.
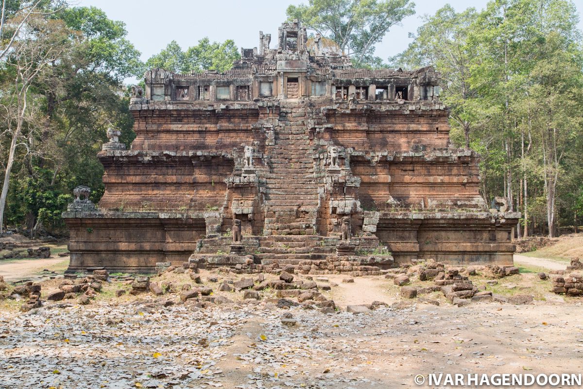
<svg viewBox="0 0 583 389">
<path fill-rule="evenodd" d="M 482 155 L 484 199 L 504 194 L 522 211 L 518 236 L 542 218 L 553 236 L 557 215 L 573 214 L 560 207 L 575 206 L 571 193 L 583 180 L 571 167 L 583 151 L 577 23 L 565 0 L 494 0 L 461 13 L 444 6 L 426 17 L 401 58 L 391 58 L 442 74 L 452 140 Z"/>
</svg>

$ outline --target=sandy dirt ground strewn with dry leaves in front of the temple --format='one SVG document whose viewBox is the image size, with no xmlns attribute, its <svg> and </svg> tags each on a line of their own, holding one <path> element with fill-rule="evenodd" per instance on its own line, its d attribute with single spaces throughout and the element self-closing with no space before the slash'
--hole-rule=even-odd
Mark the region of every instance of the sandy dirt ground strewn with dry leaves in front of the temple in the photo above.
<svg viewBox="0 0 583 389">
<path fill-rule="evenodd" d="M 15 262 L 0 263 L 0 274 L 22 265 Z M 269 288 L 259 292 L 259 301 L 220 292 L 220 282 L 249 275 L 204 270 L 212 296 L 233 303 L 201 309 L 175 293 L 115 297 L 115 290 L 131 288 L 115 279 L 87 306 L 64 300 L 20 313 L 22 301 L 0 300 L 0 388 L 423 388 L 429 386 L 413 382 L 417 374 L 580 373 L 582 299 L 554 295 L 550 281 L 538 278 L 539 271 L 564 268 L 564 262 L 524 257 L 516 264 L 521 273 L 497 285 L 487 285 L 482 275 L 470 279 L 500 296 L 531 295 L 532 304 L 457 307 L 441 292 L 423 295 L 434 305 L 404 299 L 383 276 L 347 283 L 346 275 L 312 275 L 338 307 L 325 314 L 310 302 L 278 307 Z M 28 276 L 44 267 L 34 266 Z M 186 274 L 164 273 L 152 281 L 171 281 L 178 289 L 194 285 Z M 43 281 L 43 297 L 61 282 Z M 364 314 L 346 311 L 375 301 L 387 305 Z M 283 314 L 297 326 L 284 325 Z"/>
</svg>

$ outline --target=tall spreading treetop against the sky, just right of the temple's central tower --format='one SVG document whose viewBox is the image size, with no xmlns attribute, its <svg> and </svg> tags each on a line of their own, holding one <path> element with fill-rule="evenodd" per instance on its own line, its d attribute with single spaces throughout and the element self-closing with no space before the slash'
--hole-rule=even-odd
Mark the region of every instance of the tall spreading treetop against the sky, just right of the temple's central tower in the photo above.
<svg viewBox="0 0 583 389">
<path fill-rule="evenodd" d="M 313 31 L 328 37 L 353 55 L 355 64 L 378 62 L 375 45 L 392 26 L 415 13 L 409 0 L 310 0 L 308 5 L 290 5 L 289 20 L 298 19 Z"/>
</svg>

